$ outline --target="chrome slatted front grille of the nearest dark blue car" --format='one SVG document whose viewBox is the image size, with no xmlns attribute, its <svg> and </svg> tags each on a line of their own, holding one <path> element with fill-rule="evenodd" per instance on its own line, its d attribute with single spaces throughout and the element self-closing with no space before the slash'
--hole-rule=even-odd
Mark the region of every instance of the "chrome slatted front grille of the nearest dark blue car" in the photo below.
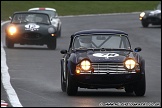
<svg viewBox="0 0 162 108">
<path fill-rule="evenodd" d="M 93 74 L 118 74 L 118 73 L 135 73 L 128 72 L 123 63 L 92 63 Z"/>
</svg>

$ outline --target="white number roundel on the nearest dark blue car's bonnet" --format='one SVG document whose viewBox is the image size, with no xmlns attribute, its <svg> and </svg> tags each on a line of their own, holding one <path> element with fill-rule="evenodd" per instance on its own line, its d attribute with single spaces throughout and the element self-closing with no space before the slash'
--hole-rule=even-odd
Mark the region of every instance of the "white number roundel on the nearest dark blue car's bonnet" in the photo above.
<svg viewBox="0 0 162 108">
<path fill-rule="evenodd" d="M 105 57 L 105 58 L 109 58 L 109 57 L 116 57 L 119 56 L 119 54 L 117 53 L 94 53 L 93 56 L 95 57 Z"/>
</svg>

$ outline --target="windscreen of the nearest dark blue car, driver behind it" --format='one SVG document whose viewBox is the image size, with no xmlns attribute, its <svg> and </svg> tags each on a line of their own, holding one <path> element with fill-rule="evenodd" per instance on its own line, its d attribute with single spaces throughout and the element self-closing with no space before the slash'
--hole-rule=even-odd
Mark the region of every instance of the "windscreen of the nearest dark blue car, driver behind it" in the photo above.
<svg viewBox="0 0 162 108">
<path fill-rule="evenodd" d="M 127 36 L 118 34 L 104 35 L 84 35 L 76 36 L 73 41 L 73 48 L 114 48 L 114 49 L 130 49 L 130 43 Z"/>
</svg>

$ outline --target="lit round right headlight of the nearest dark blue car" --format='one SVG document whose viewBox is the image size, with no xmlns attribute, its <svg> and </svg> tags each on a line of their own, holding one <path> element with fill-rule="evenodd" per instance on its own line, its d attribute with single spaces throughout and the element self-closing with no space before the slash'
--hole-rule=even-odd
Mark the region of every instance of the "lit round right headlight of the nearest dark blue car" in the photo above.
<svg viewBox="0 0 162 108">
<path fill-rule="evenodd" d="M 136 62 L 133 59 L 128 59 L 124 62 L 124 65 L 128 70 L 132 70 L 135 68 Z"/>
</svg>

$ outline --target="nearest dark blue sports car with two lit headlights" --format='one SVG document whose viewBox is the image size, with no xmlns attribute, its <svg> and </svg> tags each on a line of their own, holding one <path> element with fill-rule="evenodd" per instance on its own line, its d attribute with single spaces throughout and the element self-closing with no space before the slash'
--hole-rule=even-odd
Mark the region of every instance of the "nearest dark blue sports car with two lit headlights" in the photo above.
<svg viewBox="0 0 162 108">
<path fill-rule="evenodd" d="M 68 50 L 61 50 L 61 88 L 76 95 L 78 87 L 124 88 L 143 96 L 145 60 L 131 49 L 128 34 L 120 30 L 92 29 L 71 35 Z"/>
</svg>

